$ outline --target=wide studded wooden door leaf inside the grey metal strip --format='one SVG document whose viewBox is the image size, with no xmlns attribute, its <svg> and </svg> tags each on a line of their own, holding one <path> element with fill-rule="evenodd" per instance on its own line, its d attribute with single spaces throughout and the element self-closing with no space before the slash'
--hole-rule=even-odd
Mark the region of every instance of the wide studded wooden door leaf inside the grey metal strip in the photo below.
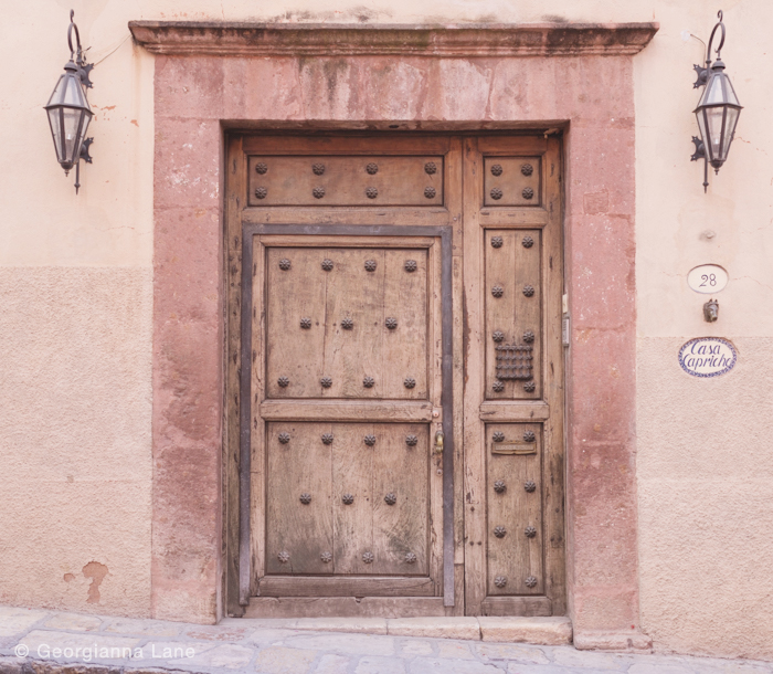
<svg viewBox="0 0 773 674">
<path fill-rule="evenodd" d="M 440 593 L 437 238 L 254 235 L 252 250 L 256 591 Z"/>
</svg>

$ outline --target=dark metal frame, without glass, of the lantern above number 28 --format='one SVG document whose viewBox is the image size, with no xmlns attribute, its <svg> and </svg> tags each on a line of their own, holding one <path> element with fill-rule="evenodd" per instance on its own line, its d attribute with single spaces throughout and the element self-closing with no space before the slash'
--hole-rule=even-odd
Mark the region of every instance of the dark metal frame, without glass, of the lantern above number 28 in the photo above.
<svg viewBox="0 0 773 674">
<path fill-rule="evenodd" d="M 698 101 L 698 106 L 695 110 L 692 110 L 698 119 L 700 137 L 692 136 L 692 143 L 696 147 L 695 152 L 690 157 L 690 161 L 703 159 L 703 192 L 708 191 L 709 187 L 709 164 L 711 164 L 711 166 L 713 167 L 714 173 L 719 173 L 719 169 L 722 167 L 722 165 L 727 160 L 728 154 L 730 152 L 730 145 L 732 144 L 733 137 L 735 135 L 735 126 L 738 125 L 738 119 L 741 116 L 741 110 L 743 109 L 743 107 L 738 101 L 738 96 L 735 94 L 735 89 L 733 88 L 732 83 L 730 82 L 730 77 L 728 77 L 728 75 L 724 74 L 724 63 L 721 60 L 720 52 L 722 50 L 722 46 L 724 45 L 726 36 L 726 28 L 724 23 L 722 22 L 722 10 L 719 10 L 719 12 L 717 12 L 717 18 L 719 19 L 719 22 L 714 25 L 713 30 L 711 31 L 711 36 L 709 38 L 709 45 L 706 50 L 706 66 L 692 66 L 697 74 L 697 80 L 692 84 L 692 88 L 698 88 L 699 86 L 706 87 L 703 94 Z M 717 30 L 719 29 L 722 29 L 722 35 L 719 42 L 719 46 L 717 48 L 717 60 L 713 62 L 712 65 L 711 45 L 713 44 Z M 717 82 L 717 86 L 714 86 L 714 82 Z M 721 91 L 722 99 L 720 102 L 708 101 L 707 98 L 709 96 L 712 96 L 713 91 L 718 87 Z M 707 114 L 707 110 L 711 108 L 722 108 L 723 110 L 722 126 L 719 131 L 719 143 L 717 144 L 717 146 L 719 147 L 719 156 L 717 157 L 714 156 L 712 148 L 709 147 L 709 145 L 707 145 L 712 140 L 710 135 L 710 124 Z M 728 110 L 731 108 L 735 110 L 734 119 L 731 119 L 728 114 Z M 730 122 L 730 124 L 732 125 L 731 128 L 728 128 L 728 122 Z M 706 138 L 705 136 L 709 137 Z"/>
</svg>

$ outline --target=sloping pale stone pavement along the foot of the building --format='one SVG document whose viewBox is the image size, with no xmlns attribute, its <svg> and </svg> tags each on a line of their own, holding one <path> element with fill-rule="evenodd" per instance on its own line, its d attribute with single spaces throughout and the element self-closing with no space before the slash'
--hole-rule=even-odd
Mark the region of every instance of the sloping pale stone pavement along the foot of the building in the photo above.
<svg viewBox="0 0 773 674">
<path fill-rule="evenodd" d="M 0 607 L 0 672 L 773 674 L 773 663 L 742 660 L 256 628 L 252 622 L 231 619 L 202 626 Z"/>
</svg>

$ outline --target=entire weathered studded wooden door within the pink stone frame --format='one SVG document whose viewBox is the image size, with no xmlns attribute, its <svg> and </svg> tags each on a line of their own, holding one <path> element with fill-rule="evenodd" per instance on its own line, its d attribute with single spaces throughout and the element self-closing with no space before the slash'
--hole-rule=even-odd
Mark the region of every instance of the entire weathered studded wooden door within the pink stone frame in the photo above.
<svg viewBox="0 0 773 674">
<path fill-rule="evenodd" d="M 563 613 L 559 147 L 231 138 L 231 612 Z"/>
</svg>

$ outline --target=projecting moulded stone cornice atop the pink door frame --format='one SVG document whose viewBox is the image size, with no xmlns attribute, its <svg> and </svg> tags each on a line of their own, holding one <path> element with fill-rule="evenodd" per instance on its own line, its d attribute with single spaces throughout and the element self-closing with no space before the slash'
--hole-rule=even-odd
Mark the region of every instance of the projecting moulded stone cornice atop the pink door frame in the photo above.
<svg viewBox="0 0 773 674">
<path fill-rule="evenodd" d="M 155 54 L 434 57 L 632 55 L 657 23 L 359 25 L 130 21 Z"/>
</svg>

